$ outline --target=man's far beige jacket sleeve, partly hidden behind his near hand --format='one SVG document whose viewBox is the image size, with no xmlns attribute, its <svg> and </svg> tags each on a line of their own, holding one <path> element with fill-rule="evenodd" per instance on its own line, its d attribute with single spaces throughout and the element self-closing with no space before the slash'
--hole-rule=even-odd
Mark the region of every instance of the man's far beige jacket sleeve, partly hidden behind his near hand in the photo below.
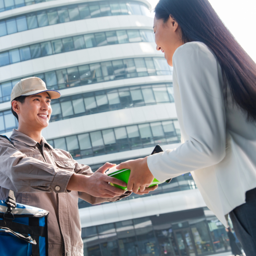
<svg viewBox="0 0 256 256">
<path fill-rule="evenodd" d="M 73 161 L 73 164 L 75 165 L 75 173 L 82 174 L 82 175 L 93 175 L 91 168 L 88 165 L 79 164 L 77 161 L 75 161 L 72 156 L 70 155 L 70 158 Z M 104 202 L 116 202 L 121 200 L 124 197 L 128 197 L 132 192 L 126 191 L 122 196 L 119 197 L 113 197 L 113 198 L 105 198 L 105 197 L 94 197 L 90 194 L 87 194 L 85 192 L 78 192 L 79 198 L 83 199 L 84 201 L 90 203 L 90 204 L 99 204 Z"/>
</svg>

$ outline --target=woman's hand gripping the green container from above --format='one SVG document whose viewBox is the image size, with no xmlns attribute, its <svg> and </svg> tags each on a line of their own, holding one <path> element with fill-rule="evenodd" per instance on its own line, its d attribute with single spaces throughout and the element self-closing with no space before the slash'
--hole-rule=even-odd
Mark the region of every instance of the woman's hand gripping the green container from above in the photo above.
<svg viewBox="0 0 256 256">
<path fill-rule="evenodd" d="M 154 180 L 154 176 L 151 174 L 148 168 L 147 158 L 148 157 L 146 156 L 145 158 L 129 160 L 126 162 L 122 162 L 121 164 L 116 166 L 116 168 L 119 170 L 131 170 L 127 189 L 136 194 L 138 194 L 138 190 L 140 193 L 142 193 L 145 191 L 145 188 L 147 188 L 146 192 L 151 191 L 151 189 L 153 188 L 149 188 L 150 184 Z"/>
</svg>

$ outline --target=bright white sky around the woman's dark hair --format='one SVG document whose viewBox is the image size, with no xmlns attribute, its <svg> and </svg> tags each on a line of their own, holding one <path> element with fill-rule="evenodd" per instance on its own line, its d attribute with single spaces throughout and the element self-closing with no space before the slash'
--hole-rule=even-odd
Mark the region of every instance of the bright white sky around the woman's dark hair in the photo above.
<svg viewBox="0 0 256 256">
<path fill-rule="evenodd" d="M 147 0 L 152 9 L 159 0 Z M 256 62 L 256 0 L 209 0 L 240 45 Z M 154 17 L 153 11 L 151 11 Z"/>
</svg>

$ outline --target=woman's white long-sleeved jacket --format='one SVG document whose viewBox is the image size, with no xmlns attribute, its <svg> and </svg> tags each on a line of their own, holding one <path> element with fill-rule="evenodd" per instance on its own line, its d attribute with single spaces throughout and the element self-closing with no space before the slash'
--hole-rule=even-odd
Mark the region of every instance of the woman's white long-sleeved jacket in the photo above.
<svg viewBox="0 0 256 256">
<path fill-rule="evenodd" d="M 256 187 L 256 123 L 223 96 L 222 70 L 201 42 L 178 47 L 172 58 L 175 106 L 182 143 L 148 157 L 163 182 L 191 172 L 207 207 L 225 225 L 225 215 L 245 203 Z"/>
</svg>

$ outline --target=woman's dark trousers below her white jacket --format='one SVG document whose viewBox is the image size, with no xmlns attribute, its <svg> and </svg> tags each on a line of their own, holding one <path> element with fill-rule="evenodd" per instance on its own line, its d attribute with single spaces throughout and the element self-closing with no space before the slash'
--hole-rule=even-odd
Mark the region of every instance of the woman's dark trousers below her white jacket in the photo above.
<svg viewBox="0 0 256 256">
<path fill-rule="evenodd" d="M 256 188 L 246 192 L 246 203 L 229 216 L 246 256 L 256 256 Z"/>
</svg>

